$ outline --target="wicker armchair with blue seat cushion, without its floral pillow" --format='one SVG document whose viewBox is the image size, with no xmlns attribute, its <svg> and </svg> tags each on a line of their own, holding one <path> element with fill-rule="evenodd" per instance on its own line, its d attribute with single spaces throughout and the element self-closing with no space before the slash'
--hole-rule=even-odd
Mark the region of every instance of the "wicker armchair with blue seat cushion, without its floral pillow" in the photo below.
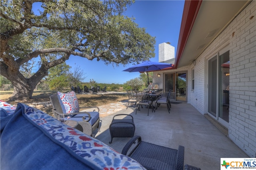
<svg viewBox="0 0 256 170">
<path fill-rule="evenodd" d="M 64 115 L 65 120 L 78 121 L 78 126 L 76 127 L 76 129 L 90 136 L 92 136 L 92 132 L 94 132 L 94 130 L 96 130 L 97 128 L 98 131 L 100 131 L 100 118 L 98 107 L 79 107 L 80 109 L 95 108 L 98 111 L 95 111 L 94 109 L 92 112 L 63 113 L 60 101 L 58 99 L 58 94 L 56 93 L 54 95 L 51 95 L 50 100 L 53 107 L 52 111 L 56 119 L 58 119 L 59 115 Z M 67 118 L 68 116 L 70 117 L 69 119 Z M 94 122 L 93 119 L 96 119 L 95 123 L 92 123 Z"/>
</svg>

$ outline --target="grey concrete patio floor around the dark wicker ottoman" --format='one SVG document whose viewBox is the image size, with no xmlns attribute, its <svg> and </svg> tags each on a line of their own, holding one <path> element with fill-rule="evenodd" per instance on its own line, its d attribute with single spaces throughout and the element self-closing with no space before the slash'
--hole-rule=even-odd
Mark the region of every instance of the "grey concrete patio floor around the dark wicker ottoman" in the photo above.
<svg viewBox="0 0 256 170">
<path fill-rule="evenodd" d="M 121 153 L 130 138 L 113 138 L 109 144 L 109 125 L 114 115 L 129 114 L 134 118 L 134 135 L 140 135 L 143 141 L 174 149 L 184 146 L 184 164 L 202 170 L 219 170 L 220 158 L 249 157 L 188 103 L 172 104 L 170 114 L 166 105 L 161 105 L 155 113 L 150 109 L 149 116 L 147 111 L 143 108 L 135 115 L 134 108 L 130 107 L 101 118 L 100 132 L 95 138 Z"/>
</svg>

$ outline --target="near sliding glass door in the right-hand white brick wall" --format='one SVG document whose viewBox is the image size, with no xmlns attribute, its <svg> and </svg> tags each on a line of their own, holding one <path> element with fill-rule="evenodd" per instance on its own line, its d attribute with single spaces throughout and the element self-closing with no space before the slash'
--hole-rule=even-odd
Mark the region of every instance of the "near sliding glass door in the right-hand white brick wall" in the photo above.
<svg viewBox="0 0 256 170">
<path fill-rule="evenodd" d="M 229 51 L 227 48 L 208 60 L 208 113 L 222 125 L 229 117 Z"/>
</svg>

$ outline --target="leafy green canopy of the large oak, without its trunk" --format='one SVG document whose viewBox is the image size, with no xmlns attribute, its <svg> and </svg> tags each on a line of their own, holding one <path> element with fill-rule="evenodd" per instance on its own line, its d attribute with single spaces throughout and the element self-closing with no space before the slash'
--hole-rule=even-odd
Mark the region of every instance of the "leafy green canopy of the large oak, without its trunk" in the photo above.
<svg viewBox="0 0 256 170">
<path fill-rule="evenodd" d="M 139 28 L 133 18 L 122 16 L 131 1 L 44 1 L 37 15 L 34 15 L 38 9 L 33 3 L 1 1 L 1 32 L 12 37 L 8 40 L 12 49 L 23 49 L 13 50 L 14 56 L 24 57 L 28 51 L 62 47 L 78 52 L 76 55 L 81 57 L 101 59 L 106 64 L 127 64 L 155 55 L 155 38 Z M 12 28 L 20 32 L 8 33 Z"/>
</svg>

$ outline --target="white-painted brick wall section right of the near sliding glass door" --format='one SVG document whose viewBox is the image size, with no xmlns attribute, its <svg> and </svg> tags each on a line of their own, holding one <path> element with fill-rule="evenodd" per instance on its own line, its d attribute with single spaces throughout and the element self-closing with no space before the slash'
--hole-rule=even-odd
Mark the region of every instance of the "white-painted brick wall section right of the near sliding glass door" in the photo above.
<svg viewBox="0 0 256 170">
<path fill-rule="evenodd" d="M 254 16 L 252 19 L 250 17 Z M 230 24 L 229 137 L 256 156 L 256 1 Z M 234 33 L 234 36 L 233 36 Z"/>
</svg>

